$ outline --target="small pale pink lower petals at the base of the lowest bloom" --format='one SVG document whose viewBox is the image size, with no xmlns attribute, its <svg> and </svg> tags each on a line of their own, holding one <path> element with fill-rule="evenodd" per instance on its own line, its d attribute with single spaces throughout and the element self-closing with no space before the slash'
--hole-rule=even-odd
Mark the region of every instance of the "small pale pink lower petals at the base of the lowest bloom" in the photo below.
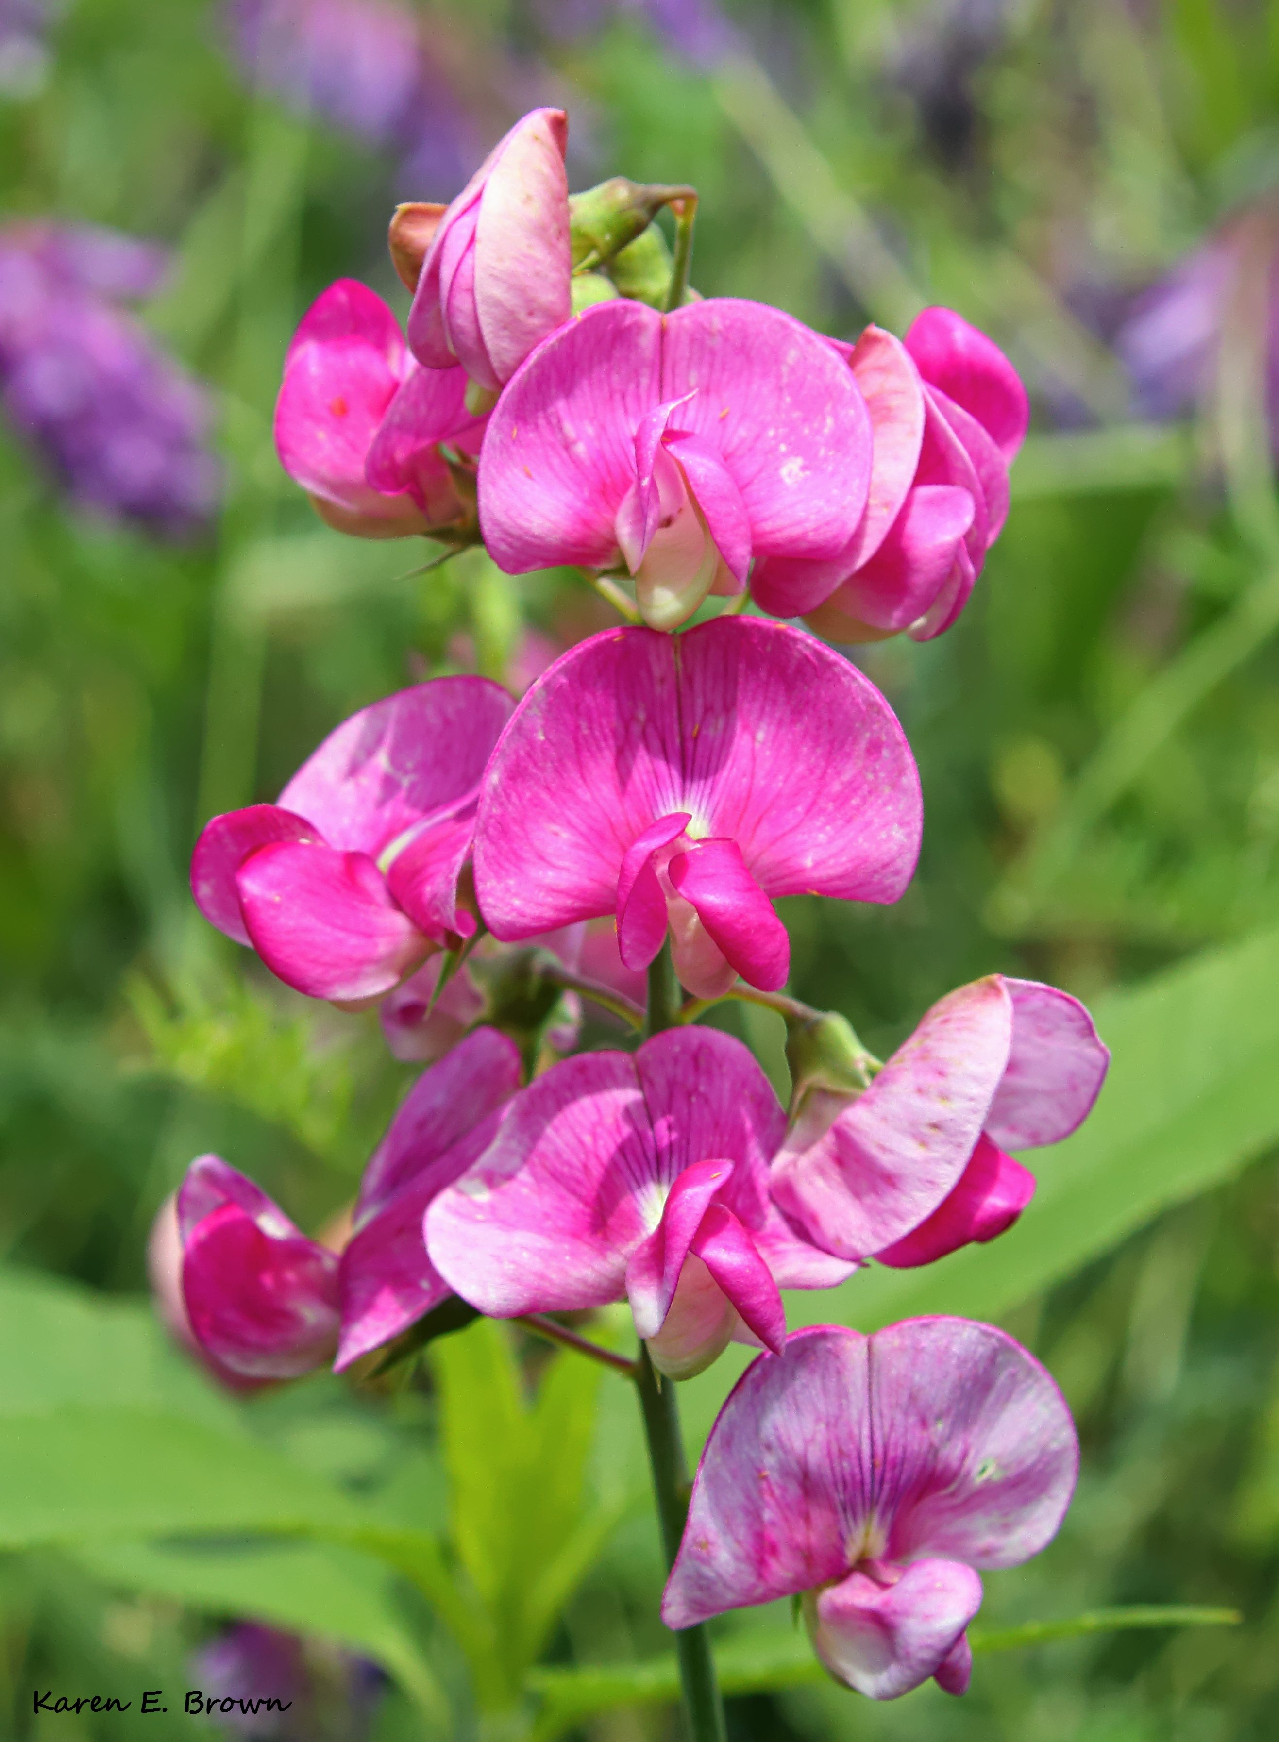
<svg viewBox="0 0 1279 1742">
<path fill-rule="evenodd" d="M 809 1604 L 809 1636 L 836 1681 L 896 1700 L 934 1676 L 981 1608 L 981 1580 L 958 1561 L 913 1561 L 894 1583 L 854 1571 Z"/>
</svg>

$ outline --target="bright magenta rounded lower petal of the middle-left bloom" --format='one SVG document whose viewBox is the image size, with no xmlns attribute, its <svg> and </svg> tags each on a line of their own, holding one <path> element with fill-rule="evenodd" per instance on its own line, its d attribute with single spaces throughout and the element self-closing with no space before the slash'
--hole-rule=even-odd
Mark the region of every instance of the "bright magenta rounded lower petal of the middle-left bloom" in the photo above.
<svg viewBox="0 0 1279 1742">
<path fill-rule="evenodd" d="M 235 873 L 235 887 L 253 948 L 310 998 L 376 998 L 429 949 L 366 854 L 263 847 Z"/>
</svg>

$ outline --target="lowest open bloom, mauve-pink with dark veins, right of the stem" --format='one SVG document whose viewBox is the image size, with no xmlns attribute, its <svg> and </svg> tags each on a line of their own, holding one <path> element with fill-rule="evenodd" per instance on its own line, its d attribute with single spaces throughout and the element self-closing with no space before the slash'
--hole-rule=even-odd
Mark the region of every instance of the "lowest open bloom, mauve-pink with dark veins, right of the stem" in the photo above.
<svg viewBox="0 0 1279 1742">
<path fill-rule="evenodd" d="M 800 1596 L 826 1669 L 873 1700 L 964 1693 L 978 1568 L 1065 1517 L 1079 1439 L 1049 1373 L 965 1319 L 798 1331 L 711 1428 L 662 1599 L 667 1627 Z"/>
</svg>

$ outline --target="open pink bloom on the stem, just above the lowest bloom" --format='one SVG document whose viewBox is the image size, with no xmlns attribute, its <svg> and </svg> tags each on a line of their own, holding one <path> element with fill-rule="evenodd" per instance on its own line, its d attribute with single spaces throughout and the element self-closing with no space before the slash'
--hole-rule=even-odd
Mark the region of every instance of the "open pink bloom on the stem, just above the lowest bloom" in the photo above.
<svg viewBox="0 0 1279 1742">
<path fill-rule="evenodd" d="M 748 1049 L 711 1028 L 638 1052 L 585 1052 L 524 1089 L 493 1144 L 427 1212 L 432 1263 L 493 1317 L 629 1300 L 653 1362 L 700 1373 L 730 1338 L 779 1350 L 779 1289 L 843 1282 L 781 1216 L 768 1164 L 786 1115 Z M 883 1246 L 936 1205 L 918 1176 L 883 1179 L 870 1214 Z"/>
</svg>

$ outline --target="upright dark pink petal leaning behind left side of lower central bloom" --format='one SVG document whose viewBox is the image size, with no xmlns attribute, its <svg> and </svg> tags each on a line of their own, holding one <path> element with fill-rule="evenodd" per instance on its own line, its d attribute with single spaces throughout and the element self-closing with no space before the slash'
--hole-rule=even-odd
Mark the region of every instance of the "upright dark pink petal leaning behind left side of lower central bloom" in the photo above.
<svg viewBox="0 0 1279 1742">
<path fill-rule="evenodd" d="M 477 1028 L 423 1071 L 364 1169 L 355 1202 L 362 1228 L 408 1183 L 430 1172 L 519 1087 L 519 1049 L 493 1028 Z M 451 1185 L 450 1174 L 441 1185 Z M 436 1185 L 434 1190 L 439 1190 Z"/>
</svg>

